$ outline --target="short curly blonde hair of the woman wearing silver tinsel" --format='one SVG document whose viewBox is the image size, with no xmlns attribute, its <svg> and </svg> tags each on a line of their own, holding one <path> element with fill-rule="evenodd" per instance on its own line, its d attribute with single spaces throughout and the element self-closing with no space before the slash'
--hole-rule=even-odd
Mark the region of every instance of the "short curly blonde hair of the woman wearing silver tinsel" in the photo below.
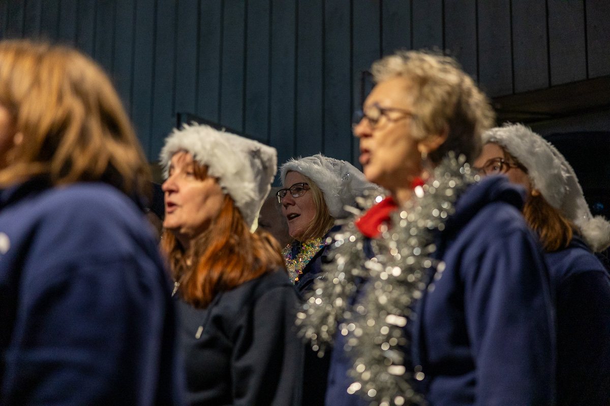
<svg viewBox="0 0 610 406">
<path fill-rule="evenodd" d="M 413 135 L 448 131 L 447 141 L 429 154 L 438 163 L 447 152 L 463 153 L 469 161 L 481 153 L 481 134 L 493 127 L 495 113 L 489 99 L 451 57 L 425 51 L 397 51 L 373 63 L 375 83 L 393 77 L 411 82 L 415 117 Z"/>
</svg>

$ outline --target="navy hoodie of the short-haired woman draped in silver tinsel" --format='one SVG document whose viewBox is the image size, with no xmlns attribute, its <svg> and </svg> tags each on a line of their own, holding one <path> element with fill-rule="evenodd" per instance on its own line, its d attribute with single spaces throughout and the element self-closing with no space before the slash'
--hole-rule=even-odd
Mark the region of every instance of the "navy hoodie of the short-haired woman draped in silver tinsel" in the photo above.
<svg viewBox="0 0 610 406">
<path fill-rule="evenodd" d="M 437 235 L 445 271 L 407 323 L 414 382 L 431 406 L 551 405 L 554 317 L 548 273 L 520 208 L 522 189 L 503 177 L 470 186 Z M 432 288 L 431 285 L 434 284 Z M 336 336 L 326 405 L 368 405 L 346 393 L 349 354 Z"/>
</svg>

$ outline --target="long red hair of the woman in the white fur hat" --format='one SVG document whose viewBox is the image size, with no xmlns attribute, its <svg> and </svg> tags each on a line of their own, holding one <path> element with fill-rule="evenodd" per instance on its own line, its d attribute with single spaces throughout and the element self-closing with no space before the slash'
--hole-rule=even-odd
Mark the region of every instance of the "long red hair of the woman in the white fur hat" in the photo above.
<svg viewBox="0 0 610 406">
<path fill-rule="evenodd" d="M 195 164 L 195 176 L 205 178 L 206 167 Z M 196 237 L 187 250 L 171 231 L 161 243 L 178 292 L 194 307 L 207 307 L 214 296 L 268 271 L 283 268 L 279 243 L 266 231 L 251 233 L 233 199 L 225 195 L 217 219 Z"/>
</svg>

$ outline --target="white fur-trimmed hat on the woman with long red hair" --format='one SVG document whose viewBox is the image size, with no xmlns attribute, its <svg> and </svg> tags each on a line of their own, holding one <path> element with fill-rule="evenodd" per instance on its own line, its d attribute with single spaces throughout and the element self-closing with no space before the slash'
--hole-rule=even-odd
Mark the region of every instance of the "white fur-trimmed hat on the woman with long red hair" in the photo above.
<svg viewBox="0 0 610 406">
<path fill-rule="evenodd" d="M 220 187 L 252 227 L 278 170 L 276 150 L 209 125 L 185 124 L 165 139 L 159 155 L 166 179 L 171 157 L 180 151 L 190 153 L 193 161 L 207 166 L 209 175 L 218 179 Z"/>
</svg>

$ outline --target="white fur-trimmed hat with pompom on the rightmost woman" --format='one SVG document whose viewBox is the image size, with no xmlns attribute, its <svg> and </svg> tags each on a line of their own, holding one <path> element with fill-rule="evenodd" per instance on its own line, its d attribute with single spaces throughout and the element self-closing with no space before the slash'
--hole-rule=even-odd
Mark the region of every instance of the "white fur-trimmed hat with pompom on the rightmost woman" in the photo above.
<svg viewBox="0 0 610 406">
<path fill-rule="evenodd" d="M 610 223 L 600 215 L 591 215 L 576 173 L 550 142 L 523 124 L 509 123 L 483 133 L 483 144 L 489 142 L 503 147 L 528 169 L 533 187 L 580 228 L 595 252 L 608 248 Z"/>
</svg>

